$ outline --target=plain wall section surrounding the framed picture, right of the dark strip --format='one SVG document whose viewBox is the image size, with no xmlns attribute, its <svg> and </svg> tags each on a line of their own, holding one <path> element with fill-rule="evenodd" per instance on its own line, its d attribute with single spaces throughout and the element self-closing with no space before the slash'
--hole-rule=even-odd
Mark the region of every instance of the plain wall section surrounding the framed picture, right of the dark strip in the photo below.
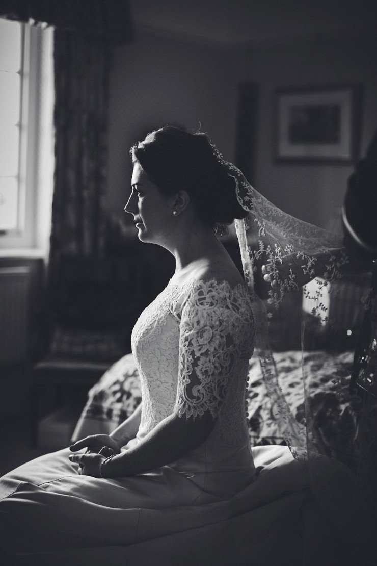
<svg viewBox="0 0 377 566">
<path fill-rule="evenodd" d="M 239 61 L 239 77 L 259 87 L 255 188 L 292 215 L 326 227 L 340 209 L 352 165 L 278 164 L 274 161 L 274 90 L 360 82 L 361 153 L 377 128 L 375 37 L 333 38 L 260 46 Z"/>
</svg>

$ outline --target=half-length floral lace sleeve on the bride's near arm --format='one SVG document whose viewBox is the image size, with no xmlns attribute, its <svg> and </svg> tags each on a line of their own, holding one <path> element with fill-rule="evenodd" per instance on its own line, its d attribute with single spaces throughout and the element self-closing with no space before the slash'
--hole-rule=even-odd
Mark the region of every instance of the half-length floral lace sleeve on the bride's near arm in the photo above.
<svg viewBox="0 0 377 566">
<path fill-rule="evenodd" d="M 196 286 L 185 299 L 175 404 L 179 417 L 196 417 L 207 410 L 218 417 L 237 361 L 251 355 L 250 318 L 246 320 L 245 311 L 235 290 L 220 289 L 216 283 Z"/>
</svg>

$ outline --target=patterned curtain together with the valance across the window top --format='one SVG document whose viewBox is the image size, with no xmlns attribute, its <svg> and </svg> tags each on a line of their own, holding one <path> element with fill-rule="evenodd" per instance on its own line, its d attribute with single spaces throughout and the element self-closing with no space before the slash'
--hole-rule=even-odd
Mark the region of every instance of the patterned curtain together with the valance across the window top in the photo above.
<svg viewBox="0 0 377 566">
<path fill-rule="evenodd" d="M 55 27 L 54 279 L 62 255 L 105 252 L 110 49 L 133 41 L 131 16 L 125 0 L 0 0 L 0 16 Z"/>
</svg>

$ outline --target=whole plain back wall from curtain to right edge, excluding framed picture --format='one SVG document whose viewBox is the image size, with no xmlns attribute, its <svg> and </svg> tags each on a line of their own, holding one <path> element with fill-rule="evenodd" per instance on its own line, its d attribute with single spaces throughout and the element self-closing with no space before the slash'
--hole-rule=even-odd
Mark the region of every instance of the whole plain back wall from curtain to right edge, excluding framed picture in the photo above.
<svg viewBox="0 0 377 566">
<path fill-rule="evenodd" d="M 259 89 L 254 185 L 283 210 L 328 226 L 343 203 L 352 164 L 274 161 L 276 88 L 359 82 L 363 85 L 360 155 L 377 128 L 374 37 L 334 37 L 249 52 L 137 35 L 114 50 L 110 85 L 108 206 L 123 216 L 131 182 L 129 147 L 150 128 L 175 123 L 201 128 L 227 158 L 236 139 L 237 83 Z M 127 218 L 126 216 L 123 216 Z"/>
</svg>

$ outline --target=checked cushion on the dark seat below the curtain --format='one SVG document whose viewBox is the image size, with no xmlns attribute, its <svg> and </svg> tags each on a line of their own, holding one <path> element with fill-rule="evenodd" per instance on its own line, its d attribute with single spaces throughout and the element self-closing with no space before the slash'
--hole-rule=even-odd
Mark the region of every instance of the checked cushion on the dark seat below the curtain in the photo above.
<svg viewBox="0 0 377 566">
<path fill-rule="evenodd" d="M 126 351 L 121 333 L 69 331 L 60 328 L 55 329 L 50 346 L 50 353 L 54 357 L 90 361 L 113 362 Z"/>
</svg>

